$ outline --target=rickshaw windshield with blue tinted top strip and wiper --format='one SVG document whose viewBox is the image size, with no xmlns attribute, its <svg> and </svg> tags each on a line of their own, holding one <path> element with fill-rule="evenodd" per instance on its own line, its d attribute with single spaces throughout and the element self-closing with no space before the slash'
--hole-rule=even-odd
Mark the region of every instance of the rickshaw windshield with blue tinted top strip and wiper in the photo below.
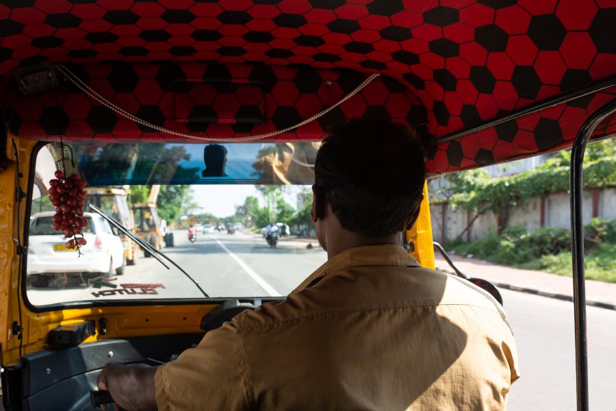
<svg viewBox="0 0 616 411">
<path fill-rule="evenodd" d="M 118 146 L 99 145 L 97 153 L 116 152 Z M 36 157 L 36 188 L 32 190 L 25 268 L 27 299 L 32 304 L 204 298 L 175 266 L 168 264 L 170 268 L 167 269 L 135 241 L 109 229 L 106 221 L 96 219 L 92 223 L 88 203 L 101 206 L 151 247 L 162 251 L 193 277 L 210 298 L 283 297 L 325 262 L 326 253 L 318 245 L 309 218 L 310 185 L 281 184 L 297 179 L 298 174 L 289 166 L 291 163 L 307 169 L 305 176 L 313 178 L 305 151 L 300 161 L 307 164 L 305 166 L 289 158 L 287 164 L 271 162 L 270 171 L 277 171 L 271 176 L 278 176 L 278 184 L 272 181 L 263 184 L 266 182 L 264 174 L 254 173 L 254 167 L 252 175 L 238 175 L 235 179 L 229 173 L 224 181 L 207 179 L 196 173 L 190 178 L 183 175 L 179 179 L 166 169 L 164 184 L 154 184 L 162 183 L 162 178 L 155 177 L 161 172 L 160 164 L 168 166 L 169 163 L 153 161 L 147 170 L 144 165 L 139 166 L 148 164 L 148 158 L 141 155 L 159 153 L 170 145 L 148 143 L 143 146 L 147 149 L 142 145 L 130 145 L 136 153 L 131 163 L 137 165 L 135 169 L 141 167 L 137 174 L 133 169 L 132 175 L 151 176 L 151 181 L 140 177 L 135 181 L 143 184 L 124 186 L 122 184 L 127 183 L 125 172 L 118 173 L 118 180 L 110 179 L 109 173 L 105 179 L 100 178 L 104 174 L 101 170 L 118 171 L 118 164 L 108 164 L 101 160 L 102 155 L 99 155 L 97 167 L 85 171 L 87 162 L 80 160 L 79 153 L 88 151 L 78 144 L 71 144 L 70 149 L 64 151 L 55 143 L 40 148 Z M 227 153 L 253 153 L 251 164 L 263 158 L 264 145 L 242 146 L 251 147 L 225 146 L 225 149 Z M 290 153 L 287 144 L 267 146 L 271 148 L 266 150 L 266 155 L 272 158 L 273 153 L 276 156 Z M 207 145 L 172 145 L 175 151 L 184 153 L 183 162 L 187 163 L 193 159 L 190 153 L 203 155 L 205 147 Z M 117 157 L 110 156 L 110 163 L 114 158 Z M 84 211 L 90 224 L 84 231 L 88 244 L 82 247 L 82 256 L 64 247 L 69 238 L 53 229 L 55 207 L 49 199 L 49 182 L 55 178 L 53 172 L 63 167 L 66 167 L 66 174 L 77 173 L 88 182 Z M 175 170 L 180 175 L 184 173 L 179 166 Z M 302 178 L 304 182 L 307 179 Z M 182 184 L 173 184 L 176 181 Z M 247 181 L 253 184 L 243 184 Z M 107 228 L 92 232 L 100 223 L 105 223 Z M 271 236 L 268 238 L 271 227 L 277 227 L 275 244 Z"/>
</svg>

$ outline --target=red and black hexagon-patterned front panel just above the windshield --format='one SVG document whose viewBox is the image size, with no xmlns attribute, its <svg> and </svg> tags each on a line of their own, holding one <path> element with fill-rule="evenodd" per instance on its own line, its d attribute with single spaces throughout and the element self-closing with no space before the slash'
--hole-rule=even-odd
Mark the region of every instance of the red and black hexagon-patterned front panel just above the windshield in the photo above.
<svg viewBox="0 0 616 411">
<path fill-rule="evenodd" d="M 176 132 L 210 138 L 235 138 L 266 134 L 296 125 L 334 105 L 363 82 L 367 75 L 353 71 L 327 71 L 287 66 L 248 64 L 97 65 L 77 66 L 74 73 L 107 100 L 155 125 Z M 196 95 L 186 90 L 191 84 L 211 85 L 211 94 Z M 230 95 L 231 84 L 251 84 L 264 90 L 264 101 Z M 218 88 L 218 92 L 216 91 Z M 194 117 L 220 115 L 235 110 L 242 117 L 246 108 L 264 108 L 263 124 L 185 123 L 177 121 L 177 96 L 192 99 Z M 418 110 L 419 109 L 419 110 Z M 408 88 L 388 77 L 377 77 L 359 94 L 331 110 L 317 121 L 280 134 L 280 141 L 319 140 L 329 125 L 353 117 L 392 119 L 400 123 L 425 121 L 425 110 Z M 40 95 L 20 97 L 14 105 L 16 116 L 10 128 L 27 138 L 67 140 L 187 140 L 117 116 L 89 99 L 72 84 Z M 252 110 L 248 110 L 250 112 Z M 408 120 L 407 120 L 408 119 Z M 188 141 L 194 141 L 188 139 Z"/>
</svg>

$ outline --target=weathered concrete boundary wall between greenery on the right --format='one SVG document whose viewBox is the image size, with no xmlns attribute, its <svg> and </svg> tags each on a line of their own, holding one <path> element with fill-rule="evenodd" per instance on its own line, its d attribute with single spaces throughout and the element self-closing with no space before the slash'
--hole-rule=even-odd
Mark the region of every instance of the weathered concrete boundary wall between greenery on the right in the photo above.
<svg viewBox="0 0 616 411">
<path fill-rule="evenodd" d="M 593 217 L 604 220 L 616 219 L 616 188 L 603 190 L 585 190 L 583 194 L 582 216 L 584 223 L 589 223 Z M 444 243 L 457 238 L 464 232 L 475 214 L 463 210 L 452 209 L 448 203 L 433 203 L 430 205 L 432 234 L 435 241 Z M 479 216 L 473 221 L 470 229 L 461 236 L 463 241 L 473 241 L 486 238 L 489 232 L 498 232 L 502 228 L 522 225 L 527 232 L 533 232 L 541 227 L 569 228 L 571 227 L 571 206 L 568 192 L 553 192 L 539 199 L 530 199 L 525 203 L 509 208 L 506 216 L 491 211 Z"/>
</svg>

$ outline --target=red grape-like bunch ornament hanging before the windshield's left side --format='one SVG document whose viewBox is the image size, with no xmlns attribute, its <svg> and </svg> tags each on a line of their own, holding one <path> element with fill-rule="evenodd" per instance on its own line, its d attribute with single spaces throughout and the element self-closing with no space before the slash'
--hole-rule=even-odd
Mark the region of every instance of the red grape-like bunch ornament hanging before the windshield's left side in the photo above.
<svg viewBox="0 0 616 411">
<path fill-rule="evenodd" d="M 55 206 L 55 216 L 53 216 L 53 229 L 64 232 L 66 238 L 71 238 L 66 242 L 66 248 L 79 250 L 82 245 L 86 245 L 86 238 L 82 231 L 88 225 L 88 220 L 84 219 L 84 200 L 86 199 L 86 180 L 79 178 L 77 174 L 64 176 L 62 171 L 55 172 L 55 179 L 49 181 L 49 200 Z M 81 234 L 80 237 L 77 237 Z"/>
</svg>

